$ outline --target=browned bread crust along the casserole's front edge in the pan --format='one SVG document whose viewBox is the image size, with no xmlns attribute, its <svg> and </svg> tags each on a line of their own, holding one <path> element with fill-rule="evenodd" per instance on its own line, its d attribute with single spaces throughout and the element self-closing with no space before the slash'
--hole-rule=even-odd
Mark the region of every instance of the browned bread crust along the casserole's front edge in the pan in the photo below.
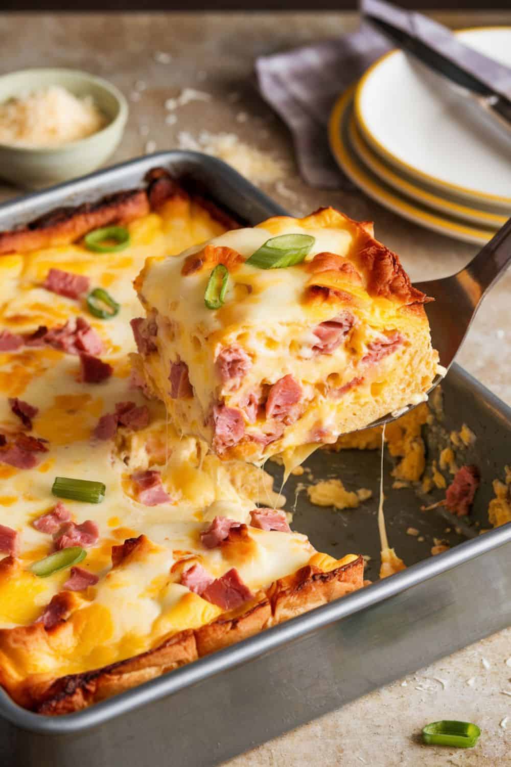
<svg viewBox="0 0 511 767">
<path fill-rule="evenodd" d="M 207 626 L 181 631 L 153 650 L 110 666 L 59 679 L 41 675 L 38 680 L 22 683 L 11 694 L 21 706 L 37 713 L 57 716 L 79 711 L 362 588 L 363 572 L 362 557 L 326 573 L 306 565 L 261 591 L 258 601 L 240 614 L 227 613 Z M 53 631 L 66 628 L 63 621 Z M 9 634 L 15 644 L 47 642 L 47 631 L 41 624 L 12 629 Z"/>
</svg>

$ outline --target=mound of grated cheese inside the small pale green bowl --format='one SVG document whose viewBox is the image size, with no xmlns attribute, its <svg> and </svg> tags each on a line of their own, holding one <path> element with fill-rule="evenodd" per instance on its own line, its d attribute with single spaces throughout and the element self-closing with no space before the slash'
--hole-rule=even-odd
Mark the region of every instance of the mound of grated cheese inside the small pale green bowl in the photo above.
<svg viewBox="0 0 511 767">
<path fill-rule="evenodd" d="M 92 97 L 60 85 L 25 92 L 0 104 L 0 143 L 26 148 L 62 146 L 97 133 L 106 118 Z"/>
</svg>

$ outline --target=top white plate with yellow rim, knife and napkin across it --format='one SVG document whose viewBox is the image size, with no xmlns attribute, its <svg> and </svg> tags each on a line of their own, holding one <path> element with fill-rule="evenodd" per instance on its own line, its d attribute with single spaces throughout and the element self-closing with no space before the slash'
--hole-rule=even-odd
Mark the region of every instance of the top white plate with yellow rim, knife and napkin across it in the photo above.
<svg viewBox="0 0 511 767">
<path fill-rule="evenodd" d="M 511 27 L 457 34 L 511 67 Z M 395 168 L 444 193 L 511 210 L 509 134 L 413 57 L 391 51 L 372 65 L 356 89 L 355 117 L 372 149 Z"/>
</svg>

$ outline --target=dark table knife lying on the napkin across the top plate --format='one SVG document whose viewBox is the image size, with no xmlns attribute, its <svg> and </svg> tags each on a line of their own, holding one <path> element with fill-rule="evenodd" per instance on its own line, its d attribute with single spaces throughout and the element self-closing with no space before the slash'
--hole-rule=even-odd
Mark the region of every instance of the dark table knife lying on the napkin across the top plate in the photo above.
<svg viewBox="0 0 511 767">
<path fill-rule="evenodd" d="M 414 37 L 405 29 L 392 25 L 389 21 L 383 21 L 368 12 L 363 11 L 363 18 L 369 22 L 375 29 L 385 35 L 398 48 L 402 48 L 407 53 L 411 53 L 423 64 L 433 69 L 437 74 L 441 74 L 447 80 L 463 87 L 469 91 L 469 95 L 477 105 L 486 111 L 496 120 L 500 127 L 503 127 L 511 134 L 511 100 L 503 94 L 498 94 L 492 90 L 485 82 L 476 77 L 473 72 L 468 71 L 463 65 L 447 58 L 432 48 L 423 40 Z"/>
</svg>

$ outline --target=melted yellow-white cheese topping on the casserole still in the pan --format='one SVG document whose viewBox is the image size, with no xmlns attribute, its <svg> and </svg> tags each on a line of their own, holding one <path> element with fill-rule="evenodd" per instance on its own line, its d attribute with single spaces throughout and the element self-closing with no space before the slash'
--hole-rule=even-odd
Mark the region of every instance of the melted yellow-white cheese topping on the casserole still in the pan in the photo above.
<svg viewBox="0 0 511 767">
<path fill-rule="evenodd" d="M 34 469 L 0 463 L 0 523 L 19 532 L 21 562 L 21 571 L 0 579 L 0 627 L 31 624 L 69 577 L 69 571 L 60 571 L 37 578 L 28 570 L 31 562 L 52 551 L 51 535 L 38 532 L 31 523 L 53 508 L 54 477 L 99 480 L 106 485 L 100 504 L 64 501 L 74 522 L 92 519 L 99 527 L 99 541 L 87 549 L 80 567 L 100 580 L 75 595 L 67 621 L 70 632 L 56 646 L 31 648 L 15 657 L 2 656 L 0 647 L 0 664 L 14 678 L 30 673 L 60 676 L 99 667 L 149 649 L 175 631 L 214 620 L 219 608 L 179 584 L 188 558 L 200 561 L 214 577 L 237 568 L 255 592 L 303 567 L 315 554 L 305 535 L 255 528 L 239 544 L 206 549 L 200 532 L 215 515 L 247 523 L 256 503 L 278 507 L 283 498 L 273 491 L 270 476 L 255 466 L 221 463 L 207 454 L 200 440 L 179 437 L 161 403 L 145 400 L 139 390 L 129 387 L 128 355 L 135 351 L 129 320 L 139 314 L 133 278 L 148 256 L 162 258 L 221 229 L 204 211 L 188 203 L 183 209 L 183 205 L 182 200 L 167 203 L 161 215 L 151 214 L 130 224 L 131 245 L 123 252 L 97 254 L 82 245 L 67 245 L 24 258 L 0 258 L 2 291 L 8 286 L 2 296 L 9 296 L 0 310 L 2 329 L 28 332 L 39 324 L 51 328 L 84 316 L 103 340 L 106 351 L 101 358 L 114 370 L 102 384 L 84 384 L 76 356 L 44 347 L 0 354 L 4 395 L 0 431 L 21 429 L 7 402 L 8 397 L 21 397 L 38 408 L 34 435 L 48 440 L 48 452 L 38 454 Z M 267 239 L 268 232 L 255 236 L 259 242 Z M 170 268 L 172 259 L 166 259 L 165 265 Z M 52 266 L 87 275 L 91 288 L 106 288 L 121 304 L 120 313 L 108 321 L 96 320 L 87 314 L 84 301 L 41 288 Z M 192 314 L 194 307 L 188 311 Z M 139 432 L 120 428 L 115 442 L 91 439 L 100 416 L 125 401 L 149 407 L 149 426 Z M 169 502 L 146 506 L 136 500 L 130 475 L 148 467 L 161 472 Z M 112 546 L 142 533 L 149 539 L 143 555 L 112 568 Z M 182 565 L 173 568 L 176 562 Z"/>
</svg>

